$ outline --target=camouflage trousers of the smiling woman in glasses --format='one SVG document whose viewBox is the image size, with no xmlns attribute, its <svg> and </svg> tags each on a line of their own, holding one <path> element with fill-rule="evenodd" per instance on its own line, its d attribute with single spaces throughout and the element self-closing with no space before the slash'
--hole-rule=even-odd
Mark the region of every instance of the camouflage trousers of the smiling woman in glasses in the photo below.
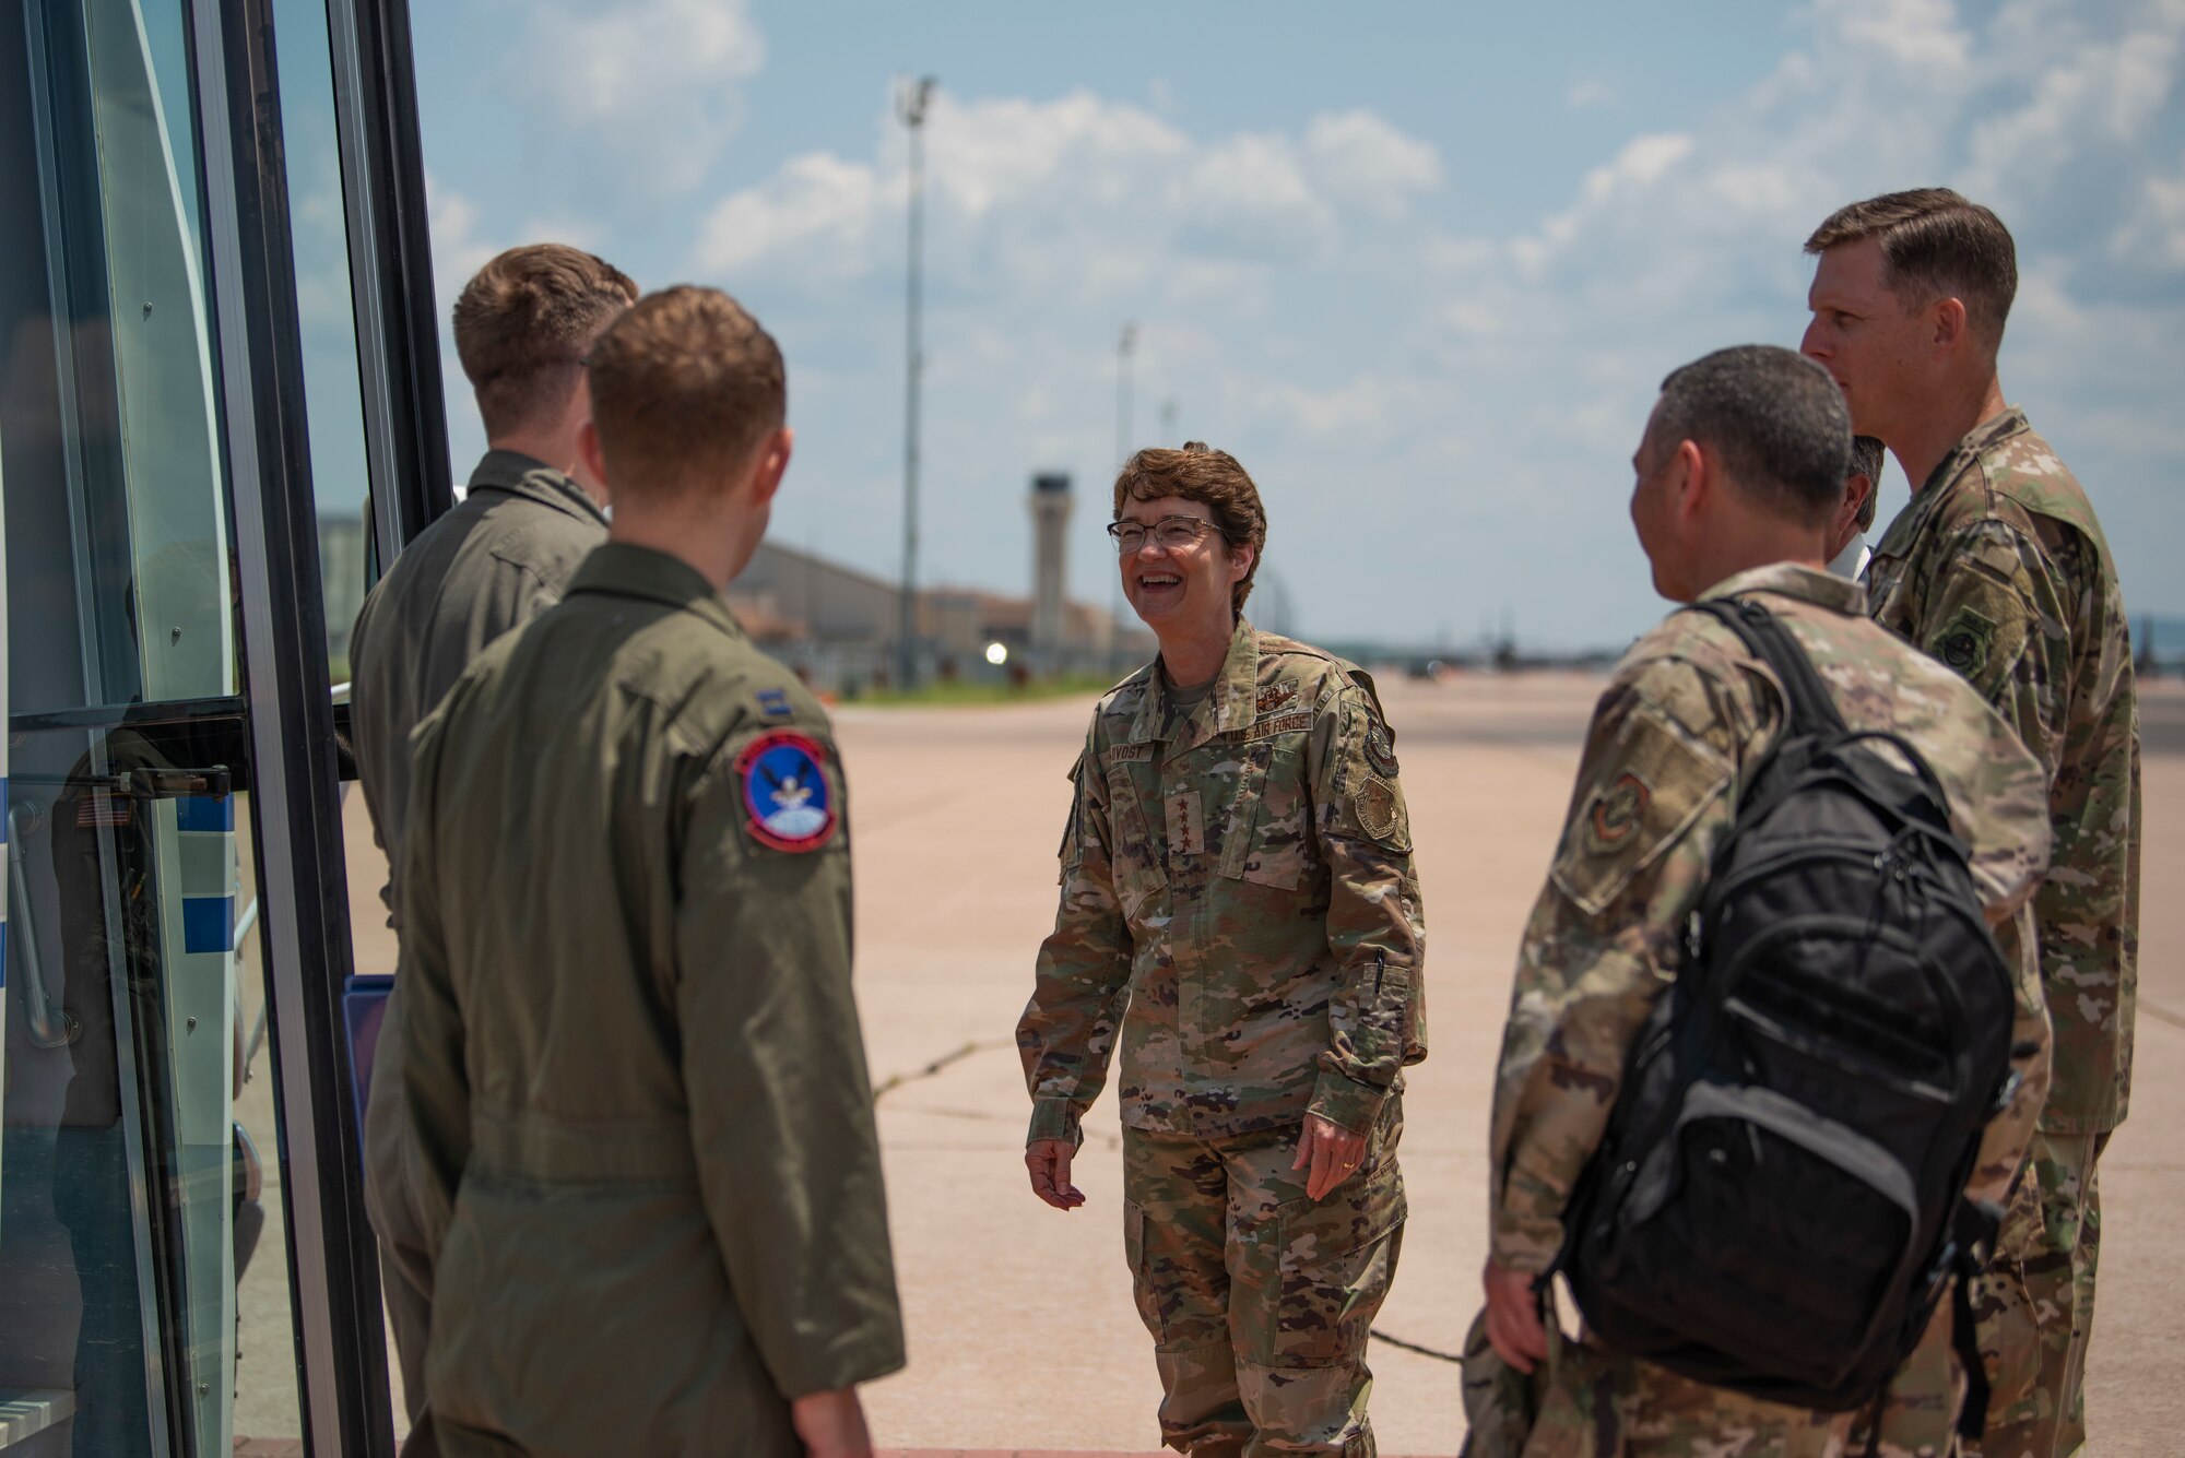
<svg viewBox="0 0 2185 1458">
<path fill-rule="evenodd" d="M 1182 1454 L 1374 1454 L 1366 1334 L 1403 1244 L 1401 1098 L 1318 1203 L 1289 1168 L 1298 1133 L 1123 1128 L 1123 1246 Z"/>
</svg>

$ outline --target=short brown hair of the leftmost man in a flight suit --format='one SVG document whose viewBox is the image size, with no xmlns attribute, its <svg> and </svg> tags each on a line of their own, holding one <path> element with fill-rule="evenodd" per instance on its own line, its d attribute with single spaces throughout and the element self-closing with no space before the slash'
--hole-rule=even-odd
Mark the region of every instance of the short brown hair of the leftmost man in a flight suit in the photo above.
<svg viewBox="0 0 2185 1458">
<path fill-rule="evenodd" d="M 583 380 L 592 340 L 636 299 L 627 273 L 562 242 L 509 249 L 479 268 L 454 301 L 454 354 L 485 434 L 559 413 Z"/>
</svg>

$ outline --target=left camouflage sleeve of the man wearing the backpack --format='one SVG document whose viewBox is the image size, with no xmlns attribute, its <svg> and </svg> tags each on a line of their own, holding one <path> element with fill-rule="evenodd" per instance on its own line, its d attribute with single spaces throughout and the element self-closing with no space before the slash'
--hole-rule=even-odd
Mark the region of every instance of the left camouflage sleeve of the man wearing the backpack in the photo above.
<svg viewBox="0 0 2185 1458">
<path fill-rule="evenodd" d="M 1586 733 L 1556 862 L 1525 925 L 1488 1126 L 1488 1242 L 1545 1270 L 1623 1063 L 1735 816 L 1741 714 L 1696 664 L 1619 672 Z"/>
</svg>

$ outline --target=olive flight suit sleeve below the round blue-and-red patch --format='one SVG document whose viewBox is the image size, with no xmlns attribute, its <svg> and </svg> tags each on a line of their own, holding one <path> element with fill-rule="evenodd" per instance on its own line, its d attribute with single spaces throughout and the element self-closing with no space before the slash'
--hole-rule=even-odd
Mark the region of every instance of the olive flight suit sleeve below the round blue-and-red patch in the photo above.
<svg viewBox="0 0 2185 1458">
<path fill-rule="evenodd" d="M 675 1011 L 706 1218 L 752 1345 L 795 1399 L 902 1366 L 902 1316 L 850 991 L 848 816 L 815 851 L 760 845 L 736 773 L 749 740 L 684 792 Z M 846 810 L 832 753 L 824 773 Z"/>
</svg>

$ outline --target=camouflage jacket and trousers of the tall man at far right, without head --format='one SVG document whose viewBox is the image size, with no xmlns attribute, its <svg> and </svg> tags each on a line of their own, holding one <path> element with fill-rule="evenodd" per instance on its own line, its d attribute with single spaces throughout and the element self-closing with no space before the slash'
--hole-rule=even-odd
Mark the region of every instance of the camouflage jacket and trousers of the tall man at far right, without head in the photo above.
<svg viewBox="0 0 2185 1458">
<path fill-rule="evenodd" d="M 1986 1458 L 2084 1443 L 2102 1238 L 2095 1161 L 2124 1122 L 2139 987 L 2139 707 L 2102 526 L 2021 410 L 1986 421 L 1890 524 L 1868 567 L 1875 620 L 1993 703 L 2041 760 L 2054 871 L 2034 895 L 2056 1072 L 2015 1192 L 1982 1327 L 1999 1375 Z M 2012 1329 L 2039 1327 L 2039 1375 Z"/>
</svg>

